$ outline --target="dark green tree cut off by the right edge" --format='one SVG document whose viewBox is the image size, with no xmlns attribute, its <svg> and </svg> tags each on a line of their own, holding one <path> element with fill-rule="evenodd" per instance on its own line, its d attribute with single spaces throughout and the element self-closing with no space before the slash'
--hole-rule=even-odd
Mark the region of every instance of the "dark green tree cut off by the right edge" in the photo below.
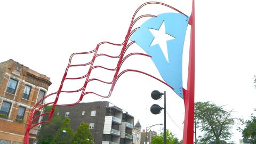
<svg viewBox="0 0 256 144">
<path fill-rule="evenodd" d="M 242 121 L 242 124 L 244 125 L 244 129 L 242 130 L 243 138 L 251 138 L 251 142 L 256 143 L 256 116 L 251 114 L 250 119 Z"/>
</svg>

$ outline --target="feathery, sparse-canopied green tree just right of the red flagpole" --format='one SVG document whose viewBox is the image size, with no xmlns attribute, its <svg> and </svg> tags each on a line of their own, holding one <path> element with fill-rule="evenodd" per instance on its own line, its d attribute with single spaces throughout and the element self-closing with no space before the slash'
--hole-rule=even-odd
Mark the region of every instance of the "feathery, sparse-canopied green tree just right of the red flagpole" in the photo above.
<svg viewBox="0 0 256 144">
<path fill-rule="evenodd" d="M 203 136 L 198 137 L 198 142 L 219 144 L 230 139 L 233 134 L 230 129 L 235 123 L 234 118 L 231 117 L 232 111 L 226 111 L 223 106 L 217 106 L 209 101 L 196 102 L 197 127 L 204 132 Z"/>
</svg>

